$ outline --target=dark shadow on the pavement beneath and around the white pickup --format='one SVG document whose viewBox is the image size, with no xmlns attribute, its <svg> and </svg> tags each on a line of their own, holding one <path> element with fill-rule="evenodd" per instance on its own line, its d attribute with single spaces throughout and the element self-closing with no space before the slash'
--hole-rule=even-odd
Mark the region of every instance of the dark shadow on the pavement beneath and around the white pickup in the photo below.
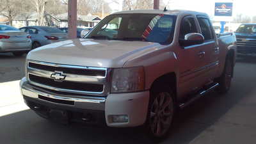
<svg viewBox="0 0 256 144">
<path fill-rule="evenodd" d="M 202 131 L 218 121 L 241 97 L 212 93 L 180 111 L 173 123 L 170 136 L 162 143 L 189 143 Z M 1 143 L 28 144 L 150 144 L 152 141 L 140 128 L 89 127 L 86 125 L 61 125 L 40 118 L 26 110 L 0 117 Z"/>
</svg>

